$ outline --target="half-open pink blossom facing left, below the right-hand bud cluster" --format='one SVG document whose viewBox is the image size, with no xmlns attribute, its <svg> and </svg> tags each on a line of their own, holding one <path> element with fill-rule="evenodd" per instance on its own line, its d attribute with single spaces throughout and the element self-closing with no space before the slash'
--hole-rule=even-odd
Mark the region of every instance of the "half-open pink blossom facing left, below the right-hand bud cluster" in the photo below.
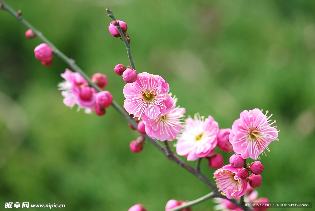
<svg viewBox="0 0 315 211">
<path fill-rule="evenodd" d="M 246 180 L 239 178 L 237 172 L 237 168 L 225 165 L 213 173 L 215 184 L 227 198 L 243 196 L 247 190 Z"/>
</svg>

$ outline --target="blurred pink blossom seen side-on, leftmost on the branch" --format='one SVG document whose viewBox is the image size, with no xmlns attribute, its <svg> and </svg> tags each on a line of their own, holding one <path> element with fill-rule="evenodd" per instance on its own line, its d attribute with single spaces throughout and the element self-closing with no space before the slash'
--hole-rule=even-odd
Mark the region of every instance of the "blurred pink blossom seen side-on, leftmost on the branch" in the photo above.
<svg viewBox="0 0 315 211">
<path fill-rule="evenodd" d="M 78 72 L 66 69 L 65 73 L 60 75 L 65 79 L 65 81 L 58 84 L 58 89 L 62 90 L 61 94 L 64 97 L 63 103 L 71 108 L 77 104 L 78 110 L 84 108 L 85 113 L 91 113 L 96 107 L 95 95 L 97 91 L 92 87 L 88 87 L 88 82 Z M 87 88 L 90 88 L 91 94 L 85 94 Z M 84 92 L 81 91 L 82 89 Z"/>
</svg>

